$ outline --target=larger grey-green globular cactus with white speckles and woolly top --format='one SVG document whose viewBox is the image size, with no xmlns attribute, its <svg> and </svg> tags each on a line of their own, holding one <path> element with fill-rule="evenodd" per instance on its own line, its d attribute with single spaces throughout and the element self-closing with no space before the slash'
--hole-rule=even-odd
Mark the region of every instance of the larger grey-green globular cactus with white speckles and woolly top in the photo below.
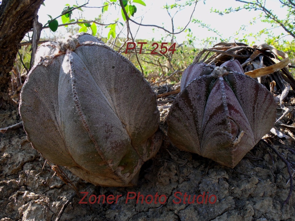
<svg viewBox="0 0 295 221">
<path fill-rule="evenodd" d="M 86 33 L 38 48 L 19 111 L 44 158 L 94 185 L 136 185 L 140 167 L 162 142 L 148 82 Z"/>
</svg>

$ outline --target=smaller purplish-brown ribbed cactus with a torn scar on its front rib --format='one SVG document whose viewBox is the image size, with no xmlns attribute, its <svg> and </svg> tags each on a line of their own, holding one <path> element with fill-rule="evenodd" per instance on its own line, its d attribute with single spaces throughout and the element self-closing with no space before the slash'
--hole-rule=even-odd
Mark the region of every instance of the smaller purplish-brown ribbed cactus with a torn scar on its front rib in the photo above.
<svg viewBox="0 0 295 221">
<path fill-rule="evenodd" d="M 195 63 L 182 74 L 181 92 L 167 117 L 168 136 L 178 148 L 228 167 L 273 127 L 276 103 L 237 60 L 216 67 Z"/>
</svg>

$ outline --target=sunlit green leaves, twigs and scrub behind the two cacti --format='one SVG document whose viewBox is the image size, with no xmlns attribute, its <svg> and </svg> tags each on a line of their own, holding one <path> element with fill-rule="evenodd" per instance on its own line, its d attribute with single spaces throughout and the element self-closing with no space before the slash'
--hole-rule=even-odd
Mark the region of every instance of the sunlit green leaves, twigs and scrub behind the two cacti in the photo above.
<svg viewBox="0 0 295 221">
<path fill-rule="evenodd" d="M 41 26 L 39 32 L 44 29 L 50 29 L 53 35 L 51 35 L 50 37 L 43 37 L 39 39 L 38 44 L 46 42 L 48 40 L 58 40 L 61 35 L 61 32 L 59 32 L 59 30 L 63 28 L 65 28 L 67 32 L 71 34 L 75 34 L 77 32 L 88 32 L 94 36 L 102 37 L 102 40 L 105 42 L 105 44 L 118 51 L 119 53 L 122 53 L 124 56 L 130 59 L 131 62 L 134 63 L 139 70 L 142 70 L 145 78 L 147 78 L 152 85 L 163 84 L 165 82 L 178 82 L 181 78 L 182 71 L 185 70 L 186 67 L 192 63 L 194 57 L 204 47 L 212 47 L 218 42 L 233 41 L 242 42 L 250 45 L 255 44 L 255 41 L 249 41 L 249 37 L 251 37 L 251 39 L 254 38 L 255 40 L 257 40 L 262 35 L 266 35 L 267 37 L 265 39 L 265 42 L 267 44 L 274 46 L 278 50 L 286 52 L 289 55 L 291 63 L 295 63 L 295 2 L 293 0 L 273 0 L 273 2 L 279 2 L 281 8 L 285 9 L 286 14 L 285 17 L 282 18 L 279 18 L 277 16 L 276 8 L 271 8 L 271 5 L 267 5 L 266 7 L 266 0 L 232 0 L 233 2 L 240 2 L 241 6 L 237 8 L 228 7 L 223 11 L 212 8 L 211 13 L 217 13 L 220 16 L 224 14 L 239 12 L 241 10 L 261 11 L 259 17 L 249 17 L 249 25 L 242 25 L 239 30 L 236 30 L 236 35 L 230 37 L 229 39 L 223 38 L 222 34 L 220 34 L 219 32 L 220 30 L 211 28 L 210 24 L 205 24 L 201 21 L 201 17 L 199 15 L 194 14 L 195 7 L 198 4 L 206 4 L 206 2 L 214 0 L 187 0 L 175 2 L 167 1 L 167 4 L 163 6 L 163 8 L 167 10 L 168 15 L 170 16 L 172 29 L 168 30 L 167 27 L 162 27 L 159 24 L 146 25 L 151 26 L 154 29 L 163 29 L 166 34 L 162 36 L 161 40 L 137 39 L 136 34 L 138 29 L 130 29 L 131 23 L 135 23 L 138 27 L 143 25 L 141 24 L 141 22 L 136 22 L 137 20 L 134 21 L 132 18 L 134 18 L 135 15 L 139 16 L 137 14 L 137 8 L 145 7 L 146 4 L 150 4 L 150 1 L 106 0 L 105 2 L 102 2 L 102 4 L 97 3 L 98 5 L 95 6 L 98 9 L 97 11 L 99 13 L 97 18 L 95 18 L 94 20 L 87 20 L 81 13 L 79 13 L 79 17 L 73 17 L 74 10 L 79 10 L 80 12 L 82 12 L 83 10 L 87 10 L 87 5 L 89 1 L 85 2 L 82 5 L 78 5 L 72 4 L 74 1 L 69 0 L 69 4 L 66 4 L 64 8 L 57 9 L 60 10 L 60 15 L 55 18 L 53 18 L 50 15 L 50 12 L 48 12 L 48 22 L 47 24 Z M 41 7 L 46 7 L 46 1 Z M 187 7 L 190 7 L 192 10 L 192 14 L 183 19 L 185 23 L 188 22 L 187 25 L 184 24 L 186 25 L 184 27 L 175 27 L 175 14 Z M 113 17 L 112 23 L 105 24 L 102 19 L 103 14 L 109 13 L 111 9 L 121 11 L 121 13 L 119 13 L 118 17 Z M 261 21 L 267 25 L 265 27 L 262 27 L 259 32 L 252 33 L 251 25 L 258 21 Z M 209 30 L 212 35 L 208 36 L 206 39 L 202 39 L 201 43 L 196 45 L 197 36 L 194 36 L 191 30 L 187 28 L 190 23 L 200 25 L 204 29 Z M 220 29 L 222 27 L 223 26 L 221 26 Z M 102 29 L 108 29 L 107 36 L 99 36 L 98 33 L 101 33 Z M 278 32 L 274 32 L 274 30 L 280 30 L 280 34 L 275 34 Z M 32 47 L 33 32 L 31 31 L 27 33 L 26 37 L 21 43 L 22 47 L 18 51 L 14 67 L 10 72 L 12 76 L 12 87 L 10 90 L 10 95 L 16 102 L 19 101 L 19 93 L 21 87 L 29 70 L 32 67 L 32 62 L 30 62 L 31 51 L 36 50 L 36 48 Z M 180 43 L 176 40 L 178 34 L 181 32 L 186 34 L 186 39 Z M 243 35 L 241 35 L 241 33 L 243 33 Z M 128 54 L 125 54 L 127 43 L 132 41 L 147 42 L 148 44 L 144 44 L 141 54 L 139 54 L 139 47 L 137 47 L 136 50 L 128 50 Z M 154 42 L 157 42 L 160 46 L 161 43 L 167 42 L 168 44 L 166 46 L 168 47 L 175 43 L 174 45 L 176 51 L 169 50 L 167 51 L 167 53 L 162 54 L 159 51 L 159 47 L 156 50 L 157 53 L 151 55 L 151 51 L 155 48 L 152 46 Z M 290 64 L 289 67 L 292 68 L 294 67 L 294 65 Z"/>
</svg>

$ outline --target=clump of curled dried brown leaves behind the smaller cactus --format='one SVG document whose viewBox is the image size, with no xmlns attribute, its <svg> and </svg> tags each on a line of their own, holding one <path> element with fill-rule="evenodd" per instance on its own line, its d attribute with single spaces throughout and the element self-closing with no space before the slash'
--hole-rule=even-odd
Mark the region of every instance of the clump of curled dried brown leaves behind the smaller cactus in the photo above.
<svg viewBox="0 0 295 221">
<path fill-rule="evenodd" d="M 214 54 L 209 57 L 210 52 L 214 52 Z M 282 60 L 279 60 L 279 57 Z M 275 82 L 275 85 L 272 83 L 275 91 L 283 91 L 288 84 L 293 89 L 295 88 L 295 79 L 287 68 L 288 55 L 268 44 L 248 46 L 243 43 L 218 43 L 213 48 L 204 48 L 195 57 L 193 63 L 215 63 L 216 66 L 220 66 L 231 59 L 239 61 L 245 74 L 252 78 L 260 77 L 259 82 L 269 90 L 273 81 Z"/>
</svg>

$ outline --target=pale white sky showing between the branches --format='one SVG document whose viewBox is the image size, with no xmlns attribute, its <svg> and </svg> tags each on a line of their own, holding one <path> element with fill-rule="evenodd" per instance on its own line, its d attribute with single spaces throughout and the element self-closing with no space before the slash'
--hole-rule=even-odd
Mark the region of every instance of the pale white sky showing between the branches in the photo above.
<svg viewBox="0 0 295 221">
<path fill-rule="evenodd" d="M 184 0 L 181 0 L 184 1 Z M 180 3 L 181 1 L 177 1 L 177 3 Z M 102 6 L 102 2 L 100 0 L 90 0 L 89 4 L 87 6 Z M 172 30 L 171 28 L 171 20 L 167 13 L 166 9 L 163 9 L 163 6 L 166 5 L 166 2 L 168 5 L 171 5 L 175 3 L 175 0 L 144 0 L 147 6 L 142 6 L 139 4 L 134 3 L 137 7 L 137 12 L 135 13 L 135 17 L 132 17 L 132 19 L 135 19 L 137 22 L 141 21 L 141 17 L 143 18 L 142 24 L 153 24 L 153 25 L 159 25 L 163 26 L 168 29 Z M 47 14 L 50 14 L 52 17 L 57 17 L 65 7 L 65 4 L 70 5 L 82 5 L 85 3 L 85 0 L 45 0 L 44 1 L 45 6 L 41 6 L 38 16 L 39 16 L 39 22 L 42 24 L 45 24 L 49 17 Z M 280 8 L 280 4 L 276 0 L 266 0 L 266 7 L 274 8 L 276 9 L 278 17 L 284 17 L 285 10 Z M 229 38 L 229 37 L 235 37 L 235 33 L 237 30 L 239 30 L 241 25 L 249 25 L 249 22 L 252 20 L 253 17 L 257 17 L 261 11 L 247 11 L 242 10 L 235 13 L 230 13 L 228 15 L 220 16 L 216 13 L 210 13 L 210 9 L 216 8 L 219 10 L 224 10 L 225 8 L 232 7 L 235 8 L 237 6 L 243 6 L 242 3 L 236 2 L 234 0 L 207 0 L 205 4 L 203 1 L 200 1 L 197 3 L 197 7 L 195 12 L 193 13 L 193 18 L 203 21 L 206 24 L 209 24 L 211 28 L 217 29 L 223 38 Z M 87 20 L 94 20 L 95 17 L 98 17 L 98 15 L 102 12 L 101 8 L 83 8 L 84 12 L 82 13 L 82 16 Z M 186 8 L 176 14 L 174 17 L 174 27 L 184 27 L 187 22 L 190 19 L 190 15 L 193 11 L 193 5 L 186 6 Z M 79 14 L 81 11 L 75 10 L 72 19 L 79 18 Z M 172 11 L 171 14 L 173 15 L 174 12 Z M 102 16 L 104 23 L 112 23 L 116 18 L 119 18 L 119 21 L 124 23 L 122 17 L 121 17 L 121 9 L 118 10 L 115 9 L 114 6 L 109 7 L 109 11 L 103 14 Z M 58 19 L 59 24 L 62 24 L 61 19 Z M 78 26 L 78 25 L 76 25 Z M 120 25 L 121 26 L 121 25 Z M 262 24 L 261 22 L 257 22 L 254 25 L 251 25 L 247 27 L 247 32 L 258 32 L 262 28 L 264 28 L 266 24 Z M 191 29 L 193 32 L 193 35 L 196 36 L 198 39 L 205 39 L 208 36 L 217 36 L 215 33 L 208 31 L 205 28 L 199 27 L 198 24 L 190 24 L 188 28 Z M 131 30 L 132 34 L 135 35 L 136 31 L 138 29 L 138 25 L 132 24 L 131 22 Z M 143 27 L 141 26 L 139 28 L 139 31 L 137 32 L 136 38 L 139 39 L 149 39 L 152 40 L 152 38 L 155 38 L 157 40 L 160 40 L 162 36 L 165 36 L 165 32 L 163 30 L 159 30 L 155 28 L 155 31 L 153 32 L 152 27 Z M 104 27 L 101 27 L 98 29 L 99 36 L 107 36 L 109 29 L 105 29 Z M 62 37 L 67 33 L 67 30 L 64 27 L 59 27 L 58 31 L 59 37 Z M 118 29 L 116 29 L 116 32 L 119 32 Z M 282 29 L 274 30 L 275 34 L 279 34 L 282 32 Z M 126 30 L 125 30 L 125 33 Z M 45 29 L 42 31 L 41 37 L 49 37 L 53 36 L 52 32 L 49 29 Z M 183 40 L 185 40 L 186 33 L 181 33 L 176 35 L 176 40 L 180 44 Z M 266 36 L 261 36 L 261 39 L 256 42 L 256 44 L 260 44 L 264 42 Z M 234 38 L 233 38 L 234 40 Z M 251 39 L 251 37 L 248 38 L 248 40 L 251 42 L 254 39 Z M 200 44 L 200 42 L 196 42 L 195 44 Z"/>
</svg>

